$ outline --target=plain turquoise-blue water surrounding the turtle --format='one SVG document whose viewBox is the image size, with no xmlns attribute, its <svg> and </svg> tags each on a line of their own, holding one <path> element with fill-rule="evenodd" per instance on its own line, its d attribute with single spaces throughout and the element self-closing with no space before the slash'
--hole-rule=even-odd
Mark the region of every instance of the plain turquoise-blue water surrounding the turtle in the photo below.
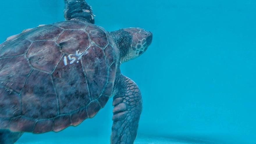
<svg viewBox="0 0 256 144">
<path fill-rule="evenodd" d="M 143 94 L 136 144 L 256 143 L 255 0 L 87 0 L 108 31 L 142 27 L 152 45 L 121 66 Z M 0 42 L 64 20 L 62 0 L 1 0 Z M 17 144 L 107 144 L 112 99 L 93 119 Z"/>
</svg>

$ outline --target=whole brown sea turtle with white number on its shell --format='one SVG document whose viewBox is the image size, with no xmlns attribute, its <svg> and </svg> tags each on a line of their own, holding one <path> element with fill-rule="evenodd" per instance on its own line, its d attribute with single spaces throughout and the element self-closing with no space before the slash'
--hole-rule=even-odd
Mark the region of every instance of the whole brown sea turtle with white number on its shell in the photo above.
<svg viewBox="0 0 256 144">
<path fill-rule="evenodd" d="M 120 72 L 152 42 L 141 28 L 108 32 L 84 0 L 64 0 L 65 21 L 40 25 L 0 45 L 0 143 L 93 118 L 113 96 L 111 144 L 132 144 L 141 92 Z"/>
</svg>

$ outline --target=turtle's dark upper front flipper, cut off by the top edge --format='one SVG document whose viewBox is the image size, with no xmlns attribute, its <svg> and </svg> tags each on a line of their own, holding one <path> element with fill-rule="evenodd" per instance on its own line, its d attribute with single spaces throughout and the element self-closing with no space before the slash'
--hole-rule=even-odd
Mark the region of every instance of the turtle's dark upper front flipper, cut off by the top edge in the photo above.
<svg viewBox="0 0 256 144">
<path fill-rule="evenodd" d="M 85 0 L 64 0 L 64 17 L 66 20 L 82 19 L 94 24 L 93 10 Z"/>
</svg>

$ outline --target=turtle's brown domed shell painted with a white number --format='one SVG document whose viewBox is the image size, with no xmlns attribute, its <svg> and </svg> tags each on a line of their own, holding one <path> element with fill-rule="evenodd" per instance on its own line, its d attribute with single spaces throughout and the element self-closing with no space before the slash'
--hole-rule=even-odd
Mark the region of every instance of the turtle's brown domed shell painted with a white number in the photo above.
<svg viewBox="0 0 256 144">
<path fill-rule="evenodd" d="M 101 27 L 70 20 L 0 45 L 0 129 L 61 131 L 92 118 L 112 95 L 119 55 Z"/>
</svg>

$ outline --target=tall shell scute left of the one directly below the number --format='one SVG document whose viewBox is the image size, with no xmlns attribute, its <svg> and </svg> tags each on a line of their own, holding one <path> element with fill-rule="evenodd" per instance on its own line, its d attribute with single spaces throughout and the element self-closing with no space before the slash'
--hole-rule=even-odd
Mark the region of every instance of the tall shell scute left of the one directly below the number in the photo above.
<svg viewBox="0 0 256 144">
<path fill-rule="evenodd" d="M 34 119 L 58 115 L 58 103 L 50 74 L 33 70 L 21 92 L 22 115 Z"/>
</svg>

